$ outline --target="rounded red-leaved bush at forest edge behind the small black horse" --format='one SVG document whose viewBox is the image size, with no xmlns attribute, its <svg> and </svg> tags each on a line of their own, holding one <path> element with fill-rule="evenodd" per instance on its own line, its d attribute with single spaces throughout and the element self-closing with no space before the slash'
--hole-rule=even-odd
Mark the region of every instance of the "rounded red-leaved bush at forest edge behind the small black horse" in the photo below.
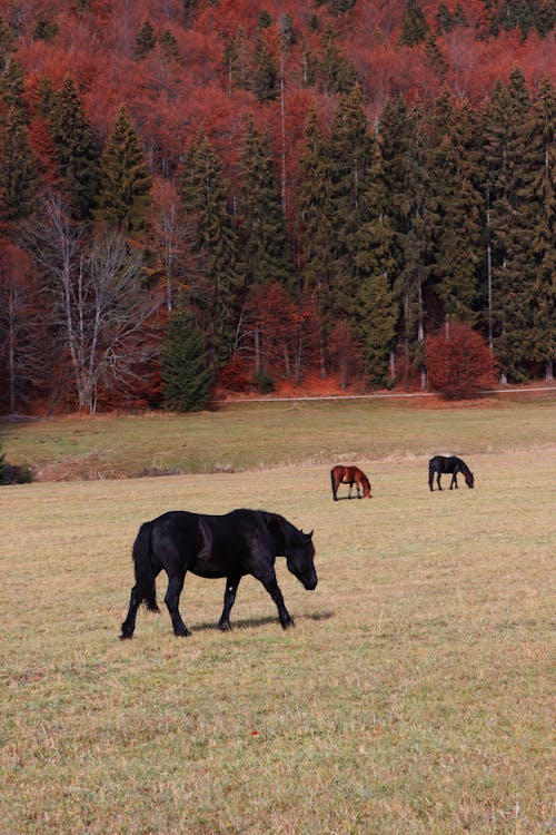
<svg viewBox="0 0 556 835">
<path fill-rule="evenodd" d="M 473 397 L 496 381 L 498 362 L 487 341 L 464 322 L 447 322 L 425 340 L 429 387 L 446 397 Z"/>
</svg>

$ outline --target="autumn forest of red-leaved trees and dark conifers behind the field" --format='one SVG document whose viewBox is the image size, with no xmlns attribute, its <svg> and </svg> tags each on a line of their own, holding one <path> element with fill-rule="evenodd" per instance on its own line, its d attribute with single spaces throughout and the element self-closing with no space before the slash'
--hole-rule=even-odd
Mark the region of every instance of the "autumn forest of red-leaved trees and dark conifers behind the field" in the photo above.
<svg viewBox="0 0 556 835">
<path fill-rule="evenodd" d="M 552 380 L 555 22 L 0 0 L 0 410 Z"/>
</svg>

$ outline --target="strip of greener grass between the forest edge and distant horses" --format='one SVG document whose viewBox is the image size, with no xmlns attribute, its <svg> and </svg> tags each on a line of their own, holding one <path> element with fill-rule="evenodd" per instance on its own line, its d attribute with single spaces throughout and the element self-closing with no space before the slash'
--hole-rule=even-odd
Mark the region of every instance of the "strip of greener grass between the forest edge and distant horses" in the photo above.
<svg viewBox="0 0 556 835">
<path fill-rule="evenodd" d="M 267 402 L 188 415 L 0 421 L 0 438 L 8 461 L 31 464 L 44 480 L 237 472 L 340 458 L 542 449 L 554 441 L 554 403 L 498 399 L 431 409 L 415 400 Z"/>
</svg>

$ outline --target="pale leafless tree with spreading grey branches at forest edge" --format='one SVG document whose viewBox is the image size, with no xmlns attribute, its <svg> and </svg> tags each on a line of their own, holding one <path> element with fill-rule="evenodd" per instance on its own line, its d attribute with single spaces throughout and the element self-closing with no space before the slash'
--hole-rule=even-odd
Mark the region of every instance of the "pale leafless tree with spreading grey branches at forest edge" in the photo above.
<svg viewBox="0 0 556 835">
<path fill-rule="evenodd" d="M 99 384 L 125 383 L 152 352 L 145 327 L 159 299 L 141 286 L 142 256 L 110 229 L 90 240 L 56 195 L 27 228 L 26 244 L 43 276 L 60 347 L 70 357 L 79 409 L 95 414 Z"/>
</svg>

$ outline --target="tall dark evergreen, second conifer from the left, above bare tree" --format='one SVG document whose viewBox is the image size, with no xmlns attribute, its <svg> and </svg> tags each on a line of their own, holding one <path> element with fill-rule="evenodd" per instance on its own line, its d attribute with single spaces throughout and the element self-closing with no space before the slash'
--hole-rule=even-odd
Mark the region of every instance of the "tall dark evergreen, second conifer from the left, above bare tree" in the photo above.
<svg viewBox="0 0 556 835">
<path fill-rule="evenodd" d="M 48 107 L 46 99 L 43 102 Z M 56 159 L 66 180 L 73 216 L 88 218 L 97 199 L 99 154 L 71 78 L 66 79 L 60 92 L 53 96 L 50 125 Z"/>
</svg>

